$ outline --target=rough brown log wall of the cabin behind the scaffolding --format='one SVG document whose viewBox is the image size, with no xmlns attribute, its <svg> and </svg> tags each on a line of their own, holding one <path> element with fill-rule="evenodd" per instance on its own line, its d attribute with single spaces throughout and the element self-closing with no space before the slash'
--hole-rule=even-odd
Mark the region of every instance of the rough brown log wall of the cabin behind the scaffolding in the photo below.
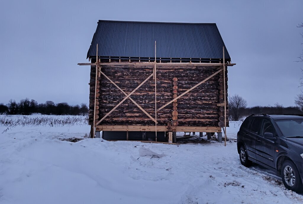
<svg viewBox="0 0 303 204">
<path fill-rule="evenodd" d="M 92 66 L 90 73 L 89 124 L 93 124 L 94 116 L 95 70 L 95 66 Z M 157 107 L 161 107 L 173 99 L 173 90 L 175 87 L 172 79 L 178 79 L 177 90 L 178 95 L 180 95 L 209 75 L 215 73 L 218 67 L 157 66 L 157 70 Z M 153 72 L 153 66 L 140 66 L 138 64 L 103 65 L 102 72 L 129 94 Z M 222 79 L 223 71 L 178 99 L 178 103 L 174 104 L 174 106 L 177 105 L 177 121 L 179 126 L 220 126 L 219 122 L 222 121 L 222 116 L 224 121 L 224 111 L 222 115 L 222 107 L 218 107 L 217 104 L 223 103 Z M 97 83 L 96 122 L 124 98 L 125 95 L 101 75 Z M 152 77 L 136 90 L 131 95 L 131 98 L 155 118 L 155 80 Z M 171 103 L 157 112 L 157 125 L 167 125 L 168 122 L 172 121 L 174 106 Z M 127 99 L 106 117 L 100 125 L 155 125 L 155 123 L 133 104 L 131 100 Z"/>
</svg>

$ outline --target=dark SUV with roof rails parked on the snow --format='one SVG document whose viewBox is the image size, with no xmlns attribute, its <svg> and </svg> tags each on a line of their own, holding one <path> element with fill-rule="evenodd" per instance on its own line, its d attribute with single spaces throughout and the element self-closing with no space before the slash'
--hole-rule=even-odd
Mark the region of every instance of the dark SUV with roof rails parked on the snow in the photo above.
<svg viewBox="0 0 303 204">
<path fill-rule="evenodd" d="M 241 164 L 281 175 L 287 189 L 303 191 L 303 115 L 251 114 L 237 134 Z"/>
</svg>

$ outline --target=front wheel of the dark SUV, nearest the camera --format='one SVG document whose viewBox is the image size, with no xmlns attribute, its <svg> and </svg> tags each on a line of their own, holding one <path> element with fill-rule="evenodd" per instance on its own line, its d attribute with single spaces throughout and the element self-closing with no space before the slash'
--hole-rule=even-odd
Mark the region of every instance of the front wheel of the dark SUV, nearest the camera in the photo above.
<svg viewBox="0 0 303 204">
<path fill-rule="evenodd" d="M 295 192 L 302 192 L 301 177 L 294 162 L 287 160 L 283 163 L 281 177 L 283 184 L 287 189 Z"/>
</svg>

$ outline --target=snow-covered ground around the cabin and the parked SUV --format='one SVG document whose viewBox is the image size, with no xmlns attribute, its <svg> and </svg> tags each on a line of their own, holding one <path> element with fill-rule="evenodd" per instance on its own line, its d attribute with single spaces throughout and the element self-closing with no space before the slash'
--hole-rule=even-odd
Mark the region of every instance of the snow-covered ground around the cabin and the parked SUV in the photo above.
<svg viewBox="0 0 303 204">
<path fill-rule="evenodd" d="M 240 125 L 230 122 L 229 138 Z M 235 142 L 57 140 L 89 131 L 81 124 L 0 126 L 0 203 L 303 202 L 273 172 L 242 166 Z"/>
</svg>

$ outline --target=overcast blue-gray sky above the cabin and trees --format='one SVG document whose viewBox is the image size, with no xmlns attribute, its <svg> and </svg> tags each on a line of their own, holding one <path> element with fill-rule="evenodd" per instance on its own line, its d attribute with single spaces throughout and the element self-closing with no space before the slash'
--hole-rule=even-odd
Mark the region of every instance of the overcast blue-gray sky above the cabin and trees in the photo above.
<svg viewBox="0 0 303 204">
<path fill-rule="evenodd" d="M 227 3 L 228 2 L 228 3 Z M 88 103 L 86 54 L 98 20 L 216 23 L 236 66 L 228 93 L 248 106 L 294 105 L 303 1 L 1 1 L 0 103 Z"/>
</svg>

